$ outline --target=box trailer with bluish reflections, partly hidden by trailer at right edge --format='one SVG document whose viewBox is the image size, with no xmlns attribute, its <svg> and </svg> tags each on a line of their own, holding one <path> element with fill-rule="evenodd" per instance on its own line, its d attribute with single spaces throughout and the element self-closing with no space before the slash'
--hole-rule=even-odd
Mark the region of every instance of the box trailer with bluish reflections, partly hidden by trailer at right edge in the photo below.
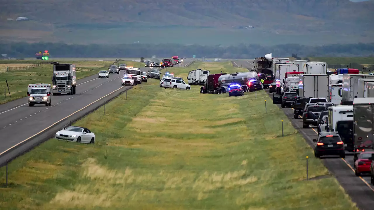
<svg viewBox="0 0 374 210">
<path fill-rule="evenodd" d="M 358 97 L 358 79 L 374 78 L 370 74 L 343 74 L 343 94 L 341 103 L 352 105 L 353 99 Z"/>
</svg>

